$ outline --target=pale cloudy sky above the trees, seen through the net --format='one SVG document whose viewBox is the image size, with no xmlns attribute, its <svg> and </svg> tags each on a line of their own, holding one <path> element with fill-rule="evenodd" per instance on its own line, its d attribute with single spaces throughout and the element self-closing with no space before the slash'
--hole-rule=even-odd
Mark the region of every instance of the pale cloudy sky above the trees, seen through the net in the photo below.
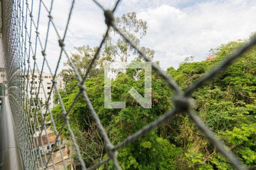
<svg viewBox="0 0 256 170">
<path fill-rule="evenodd" d="M 50 1 L 44 2 L 49 8 Z M 104 8 L 113 8 L 115 3 L 112 0 L 98 2 Z M 53 22 L 61 37 L 71 3 L 71 0 L 55 0 L 53 3 Z M 35 20 L 38 7 L 38 2 L 35 1 Z M 229 41 L 248 39 L 250 33 L 256 31 L 256 1 L 123 0 L 115 16 L 132 11 L 137 12 L 139 19 L 147 22 L 147 34 L 143 37 L 141 45 L 155 51 L 154 60 L 159 61 L 164 70 L 170 66 L 177 68 L 179 63 L 189 56 L 194 56 L 195 61 L 202 61 L 209 56 L 210 49 Z M 39 32 L 43 44 L 47 32 L 47 15 L 47 11 L 42 7 Z M 104 20 L 103 11 L 92 0 L 77 0 L 65 37 L 68 53 L 74 52 L 75 46 L 98 46 L 106 30 Z M 58 40 L 51 25 L 46 53 L 52 69 L 55 69 L 60 53 Z M 39 45 L 37 49 L 39 52 L 42 50 Z M 63 68 L 65 61 L 67 58 L 63 56 L 58 72 Z"/>
</svg>

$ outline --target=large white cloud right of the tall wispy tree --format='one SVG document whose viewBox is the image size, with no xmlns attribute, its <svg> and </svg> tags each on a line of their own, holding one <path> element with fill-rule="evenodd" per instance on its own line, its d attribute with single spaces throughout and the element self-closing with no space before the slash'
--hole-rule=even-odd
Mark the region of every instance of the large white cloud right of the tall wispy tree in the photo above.
<svg viewBox="0 0 256 170">
<path fill-rule="evenodd" d="M 148 23 L 143 45 L 156 51 L 164 69 L 187 56 L 204 59 L 210 48 L 247 38 L 256 31 L 256 2 L 203 2 L 182 10 L 162 5 L 139 12 Z"/>
</svg>

